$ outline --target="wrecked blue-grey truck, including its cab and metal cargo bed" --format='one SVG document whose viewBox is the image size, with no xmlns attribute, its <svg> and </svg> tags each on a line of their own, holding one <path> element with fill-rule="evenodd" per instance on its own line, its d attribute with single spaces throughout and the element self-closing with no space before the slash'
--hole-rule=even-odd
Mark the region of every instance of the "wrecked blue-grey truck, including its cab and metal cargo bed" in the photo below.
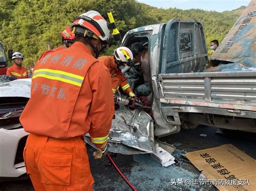
<svg viewBox="0 0 256 191">
<path fill-rule="evenodd" d="M 238 22 L 247 17 L 255 20 L 253 16 L 248 14 Z M 234 26 L 239 27 L 237 25 Z M 255 26 L 251 25 L 255 22 L 248 25 L 249 29 L 242 28 L 239 37 L 247 42 L 242 45 L 255 47 L 255 31 L 250 38 L 241 35 L 253 31 Z M 171 19 L 167 23 L 130 30 L 122 46 L 130 48 L 136 42 L 147 43 L 149 47 L 152 95 L 147 98 L 152 101 L 154 136 L 170 135 L 179 132 L 181 127 L 198 124 L 256 132 L 256 72 L 252 68 L 255 62 L 249 65 L 250 69 L 245 62 L 224 62 L 218 68 L 226 70 L 207 70 L 204 30 L 197 20 Z M 239 40 L 237 44 L 241 45 Z M 239 48 L 246 47 L 238 47 L 238 51 Z M 248 57 L 246 53 L 244 61 Z M 255 51 L 250 61 L 253 60 Z M 245 67 L 232 68 L 238 65 Z M 143 83 L 143 77 L 136 79 L 129 68 L 123 72 L 133 89 L 139 82 Z"/>
</svg>

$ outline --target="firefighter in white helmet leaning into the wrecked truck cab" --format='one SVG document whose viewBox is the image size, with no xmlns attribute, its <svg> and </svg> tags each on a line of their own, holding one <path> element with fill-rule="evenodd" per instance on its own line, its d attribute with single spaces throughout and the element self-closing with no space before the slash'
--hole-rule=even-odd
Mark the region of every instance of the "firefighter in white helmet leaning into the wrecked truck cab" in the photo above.
<svg viewBox="0 0 256 191">
<path fill-rule="evenodd" d="M 114 49 L 113 56 L 100 56 L 99 61 L 104 63 L 104 65 L 109 68 L 112 80 L 112 92 L 116 93 L 119 87 L 123 89 L 126 94 L 129 94 L 131 98 L 135 97 L 129 83 L 126 81 L 122 70 L 119 68 L 124 64 L 133 62 L 133 55 L 129 48 L 119 47 Z"/>
</svg>

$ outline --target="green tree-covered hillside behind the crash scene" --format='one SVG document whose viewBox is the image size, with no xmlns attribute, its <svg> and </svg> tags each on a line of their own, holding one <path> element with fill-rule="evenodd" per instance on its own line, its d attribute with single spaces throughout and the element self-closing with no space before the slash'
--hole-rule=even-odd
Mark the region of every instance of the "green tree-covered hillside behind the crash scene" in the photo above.
<svg viewBox="0 0 256 191">
<path fill-rule="evenodd" d="M 118 30 L 124 34 L 135 27 L 163 23 L 172 18 L 198 19 L 204 25 L 206 42 L 221 41 L 240 15 L 241 9 L 214 12 L 199 9 L 157 9 L 136 0 L 1 0 L 0 40 L 5 49 L 14 49 L 25 55 L 24 64 L 34 64 L 47 50 L 61 44 L 60 31 L 73 19 L 89 10 L 107 18 L 112 11 Z M 105 54 L 112 54 L 112 46 Z"/>
</svg>

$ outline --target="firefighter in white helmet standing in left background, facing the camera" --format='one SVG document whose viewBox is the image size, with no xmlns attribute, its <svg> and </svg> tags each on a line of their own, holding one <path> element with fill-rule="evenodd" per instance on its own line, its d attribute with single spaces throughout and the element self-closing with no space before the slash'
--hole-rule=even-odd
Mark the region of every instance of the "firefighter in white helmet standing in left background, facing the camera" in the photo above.
<svg viewBox="0 0 256 191">
<path fill-rule="evenodd" d="M 6 75 L 15 76 L 17 79 L 28 78 L 28 70 L 22 66 L 24 59 L 23 54 L 20 52 L 15 52 L 12 54 L 11 59 L 14 61 L 14 65 L 7 69 Z"/>
</svg>

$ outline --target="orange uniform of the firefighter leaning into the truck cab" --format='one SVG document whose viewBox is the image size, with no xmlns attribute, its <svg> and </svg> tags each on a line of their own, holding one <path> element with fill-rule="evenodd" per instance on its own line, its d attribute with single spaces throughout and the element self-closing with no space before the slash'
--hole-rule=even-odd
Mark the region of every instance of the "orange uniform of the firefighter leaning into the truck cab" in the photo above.
<svg viewBox="0 0 256 191">
<path fill-rule="evenodd" d="M 122 70 L 117 68 L 116 62 L 114 62 L 113 56 L 100 56 L 99 61 L 102 62 L 107 68 L 109 68 L 109 72 L 111 75 L 112 81 L 112 92 L 116 93 L 117 89 L 121 86 L 126 94 L 129 94 L 132 89 L 129 83 L 126 81 Z"/>
</svg>

